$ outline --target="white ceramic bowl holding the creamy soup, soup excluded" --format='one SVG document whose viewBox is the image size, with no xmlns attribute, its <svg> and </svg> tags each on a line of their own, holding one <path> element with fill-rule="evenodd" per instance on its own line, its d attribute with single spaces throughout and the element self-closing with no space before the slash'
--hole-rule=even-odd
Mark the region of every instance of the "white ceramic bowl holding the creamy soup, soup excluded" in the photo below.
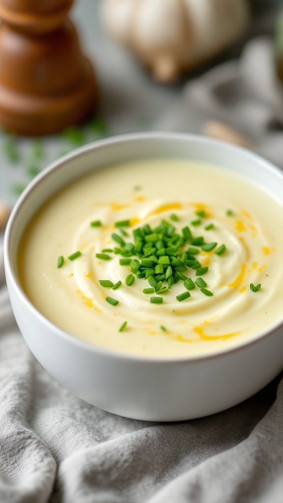
<svg viewBox="0 0 283 503">
<path fill-rule="evenodd" d="M 32 215 L 68 182 L 117 162 L 181 157 L 226 166 L 283 198 L 283 175 L 257 155 L 186 134 L 143 133 L 102 140 L 60 158 L 40 174 L 16 204 L 5 236 L 5 266 L 14 314 L 31 351 L 65 388 L 104 410 L 139 420 L 180 421 L 236 405 L 283 367 L 282 319 L 246 343 L 217 354 L 155 359 L 116 353 L 76 339 L 48 321 L 23 292 L 17 251 Z"/>
</svg>

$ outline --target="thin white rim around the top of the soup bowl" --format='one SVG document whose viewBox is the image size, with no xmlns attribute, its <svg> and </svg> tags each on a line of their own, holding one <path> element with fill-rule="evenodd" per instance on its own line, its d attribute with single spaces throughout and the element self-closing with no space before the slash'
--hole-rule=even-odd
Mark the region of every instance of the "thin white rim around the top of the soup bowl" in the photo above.
<svg viewBox="0 0 283 503">
<path fill-rule="evenodd" d="M 63 166 L 70 159 L 75 159 L 76 157 L 80 157 L 85 155 L 86 152 L 97 150 L 99 148 L 105 148 L 105 146 L 109 144 L 130 142 L 132 140 L 164 140 L 164 139 L 173 139 L 173 140 L 191 140 L 196 143 L 205 143 L 207 145 L 218 145 L 221 148 L 224 148 L 231 152 L 237 153 L 242 152 L 246 156 L 246 158 L 250 158 L 252 162 L 256 162 L 257 165 L 264 165 L 264 169 L 272 174 L 277 174 L 283 180 L 283 172 L 277 167 L 275 164 L 260 156 L 259 154 L 248 150 L 247 148 L 240 147 L 238 145 L 234 145 L 228 143 L 226 141 L 221 141 L 214 138 L 209 138 L 203 135 L 191 134 L 191 133 L 182 133 L 182 132 L 169 132 L 169 131 L 147 131 L 147 132 L 137 132 L 137 133 L 126 133 L 119 134 L 116 136 L 110 136 L 107 138 L 103 138 L 100 140 L 96 140 L 90 142 L 86 145 L 80 146 L 78 148 L 73 149 L 72 151 L 66 153 L 65 155 L 59 157 L 53 162 L 49 163 L 25 188 L 18 201 L 16 202 L 14 208 L 12 209 L 9 221 L 7 223 L 5 235 L 4 235 L 4 264 L 6 275 L 9 274 L 11 284 L 16 291 L 17 295 L 20 297 L 21 301 L 25 305 L 25 307 L 33 313 L 33 315 L 38 318 L 38 320 L 46 325 L 47 328 L 51 329 L 56 337 L 65 340 L 68 344 L 79 346 L 82 350 L 87 350 L 88 352 L 99 354 L 103 357 L 112 358 L 114 360 L 122 360 L 122 361 L 131 361 L 135 363 L 148 363 L 148 364 L 173 364 L 173 363 L 189 363 L 189 362 L 198 362 L 204 360 L 210 360 L 222 357 L 227 354 L 235 353 L 238 351 L 243 351 L 245 348 L 252 346 L 254 344 L 259 343 L 263 339 L 267 339 L 272 336 L 272 334 L 278 330 L 280 327 L 283 327 L 283 313 L 282 317 L 275 323 L 273 323 L 269 328 L 266 328 L 262 332 L 259 332 L 257 335 L 253 336 L 252 339 L 248 341 L 241 341 L 235 346 L 230 348 L 223 348 L 221 350 L 215 351 L 213 353 L 208 354 L 199 354 L 199 355 L 187 355 L 187 356 L 177 356 L 177 357 L 157 357 L 157 356 L 146 356 L 146 355 L 138 355 L 131 353 L 123 353 L 122 351 L 111 350 L 108 348 L 104 348 L 102 346 L 98 346 L 95 343 L 89 343 L 84 341 L 83 339 L 78 338 L 77 336 L 69 333 L 62 328 L 59 328 L 52 321 L 46 318 L 29 300 L 28 296 L 24 292 L 21 287 L 20 282 L 18 281 L 16 274 L 13 268 L 13 262 L 11 259 L 11 236 L 13 233 L 14 222 L 18 218 L 18 214 L 21 211 L 21 206 L 24 201 L 30 197 L 32 192 L 37 188 L 37 186 L 41 183 L 44 183 L 44 180 L 52 175 L 53 171 L 60 169 L 60 166 Z M 84 176 L 84 175 L 82 175 Z M 78 176 L 80 178 L 80 175 Z M 248 178 L 248 177 L 247 177 Z M 74 179 L 75 180 L 75 179 Z M 56 191 L 54 191 L 55 193 Z"/>
</svg>

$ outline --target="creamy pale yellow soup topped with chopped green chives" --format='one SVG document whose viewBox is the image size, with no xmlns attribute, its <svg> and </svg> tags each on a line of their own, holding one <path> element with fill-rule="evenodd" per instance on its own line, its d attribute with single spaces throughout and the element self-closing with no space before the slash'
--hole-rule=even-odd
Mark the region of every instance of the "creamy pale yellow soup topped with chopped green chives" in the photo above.
<svg viewBox="0 0 283 503">
<path fill-rule="evenodd" d="M 19 276 L 34 306 L 84 341 L 149 357 L 207 355 L 281 317 L 282 233 L 282 206 L 244 177 L 138 160 L 48 200 L 24 232 Z"/>
</svg>

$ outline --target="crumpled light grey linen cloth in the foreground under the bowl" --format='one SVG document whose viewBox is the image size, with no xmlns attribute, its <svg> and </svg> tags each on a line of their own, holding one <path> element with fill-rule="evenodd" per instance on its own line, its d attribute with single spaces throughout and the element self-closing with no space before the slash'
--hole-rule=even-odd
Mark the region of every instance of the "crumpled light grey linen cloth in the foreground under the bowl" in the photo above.
<svg viewBox="0 0 283 503">
<path fill-rule="evenodd" d="M 66 391 L 31 355 L 2 253 L 0 285 L 1 503 L 282 503 L 281 376 L 210 417 L 119 417 Z"/>
</svg>

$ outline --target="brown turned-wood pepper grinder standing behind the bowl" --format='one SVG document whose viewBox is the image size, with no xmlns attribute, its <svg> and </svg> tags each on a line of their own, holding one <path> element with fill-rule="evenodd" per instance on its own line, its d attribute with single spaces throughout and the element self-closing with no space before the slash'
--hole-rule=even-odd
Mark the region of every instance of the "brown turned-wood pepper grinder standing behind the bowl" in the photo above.
<svg viewBox="0 0 283 503">
<path fill-rule="evenodd" d="M 0 0 L 0 123 L 44 135 L 93 112 L 97 86 L 67 18 L 73 0 Z"/>
</svg>

